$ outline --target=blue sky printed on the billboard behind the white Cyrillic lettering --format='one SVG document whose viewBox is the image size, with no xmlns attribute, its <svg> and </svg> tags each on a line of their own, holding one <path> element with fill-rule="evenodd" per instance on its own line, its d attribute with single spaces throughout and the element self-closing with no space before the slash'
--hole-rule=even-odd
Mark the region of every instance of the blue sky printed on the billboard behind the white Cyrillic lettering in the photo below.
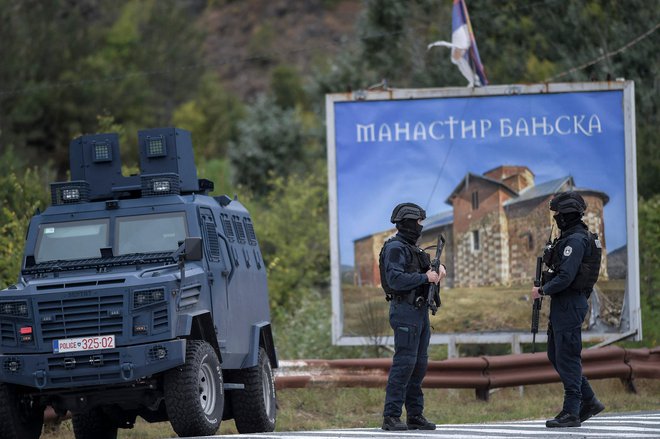
<svg viewBox="0 0 660 439">
<path fill-rule="evenodd" d="M 527 166 L 536 184 L 570 175 L 606 193 L 607 248 L 626 244 L 620 90 L 335 102 L 334 116 L 342 265 L 353 265 L 355 239 L 393 227 L 396 204 L 449 211 L 468 172 L 501 165 Z"/>
</svg>

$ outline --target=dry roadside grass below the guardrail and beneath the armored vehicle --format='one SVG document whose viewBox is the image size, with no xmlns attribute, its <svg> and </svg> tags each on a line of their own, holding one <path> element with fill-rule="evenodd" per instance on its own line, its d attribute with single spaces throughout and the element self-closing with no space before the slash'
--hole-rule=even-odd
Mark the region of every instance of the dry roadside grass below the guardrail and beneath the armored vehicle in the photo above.
<svg viewBox="0 0 660 439">
<path fill-rule="evenodd" d="M 627 393 L 618 379 L 591 382 L 607 412 L 660 408 L 660 380 L 636 381 L 637 394 Z M 438 424 L 481 423 L 551 418 L 561 409 L 561 384 L 526 386 L 494 391 L 490 401 L 479 401 L 473 390 L 426 389 L 425 415 Z M 329 428 L 378 428 L 382 422 L 385 390 L 364 388 L 286 389 L 278 392 L 278 431 Z M 405 416 L 405 415 L 404 415 Z M 237 433 L 233 421 L 224 421 L 219 434 Z M 121 438 L 176 437 L 167 422 L 148 424 L 141 419 L 132 430 L 119 430 Z M 44 439 L 73 439 L 71 421 L 49 426 Z"/>
</svg>

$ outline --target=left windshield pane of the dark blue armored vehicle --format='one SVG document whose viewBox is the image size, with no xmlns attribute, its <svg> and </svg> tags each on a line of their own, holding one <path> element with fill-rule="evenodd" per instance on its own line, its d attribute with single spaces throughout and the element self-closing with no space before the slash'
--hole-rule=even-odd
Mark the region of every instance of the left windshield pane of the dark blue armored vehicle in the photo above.
<svg viewBox="0 0 660 439">
<path fill-rule="evenodd" d="M 38 264 L 100 258 L 108 239 L 107 219 L 41 224 L 34 257 Z"/>
</svg>

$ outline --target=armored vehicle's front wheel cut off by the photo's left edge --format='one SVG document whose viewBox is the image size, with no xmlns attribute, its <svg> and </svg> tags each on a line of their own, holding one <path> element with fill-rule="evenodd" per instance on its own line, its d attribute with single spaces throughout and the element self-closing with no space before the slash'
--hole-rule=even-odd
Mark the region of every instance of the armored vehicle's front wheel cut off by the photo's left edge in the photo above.
<svg viewBox="0 0 660 439">
<path fill-rule="evenodd" d="M 43 425 L 44 407 L 12 384 L 0 383 L 0 438 L 36 439 Z"/>
</svg>

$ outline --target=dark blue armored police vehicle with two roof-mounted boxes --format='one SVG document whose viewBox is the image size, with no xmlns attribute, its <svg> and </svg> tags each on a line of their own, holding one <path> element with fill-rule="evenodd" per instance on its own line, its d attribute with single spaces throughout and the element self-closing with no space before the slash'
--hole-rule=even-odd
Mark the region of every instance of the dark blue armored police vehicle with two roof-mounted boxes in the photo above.
<svg viewBox="0 0 660 439">
<path fill-rule="evenodd" d="M 117 134 L 70 144 L 71 181 L 30 221 L 18 283 L 0 291 L 0 437 L 38 438 L 44 408 L 76 438 L 137 416 L 180 436 L 275 427 L 277 367 L 252 218 L 198 179 L 190 133 L 138 132 L 140 175 Z"/>
</svg>

